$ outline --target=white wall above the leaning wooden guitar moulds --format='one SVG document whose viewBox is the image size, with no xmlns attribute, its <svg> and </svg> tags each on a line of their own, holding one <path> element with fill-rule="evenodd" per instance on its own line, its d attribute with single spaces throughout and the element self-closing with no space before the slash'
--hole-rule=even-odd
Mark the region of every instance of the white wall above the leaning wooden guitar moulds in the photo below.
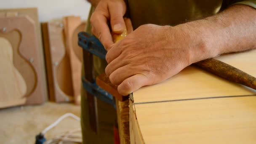
<svg viewBox="0 0 256 144">
<path fill-rule="evenodd" d="M 81 16 L 87 20 L 91 4 L 86 0 L 0 0 L 0 9 L 37 7 L 39 21 Z"/>
</svg>

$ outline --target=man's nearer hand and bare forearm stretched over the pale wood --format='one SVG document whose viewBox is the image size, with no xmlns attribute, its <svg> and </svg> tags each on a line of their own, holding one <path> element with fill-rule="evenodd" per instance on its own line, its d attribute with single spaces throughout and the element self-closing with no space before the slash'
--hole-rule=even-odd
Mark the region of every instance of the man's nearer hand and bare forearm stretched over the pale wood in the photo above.
<svg viewBox="0 0 256 144">
<path fill-rule="evenodd" d="M 105 72 L 128 95 L 160 83 L 189 64 L 256 48 L 256 10 L 234 5 L 215 16 L 175 27 L 142 25 L 112 45 Z"/>
</svg>

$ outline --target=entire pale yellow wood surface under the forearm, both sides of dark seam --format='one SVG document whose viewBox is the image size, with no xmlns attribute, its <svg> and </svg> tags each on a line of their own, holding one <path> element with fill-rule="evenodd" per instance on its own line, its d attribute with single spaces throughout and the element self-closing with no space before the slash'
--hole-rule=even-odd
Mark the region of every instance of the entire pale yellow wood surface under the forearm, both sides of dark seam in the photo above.
<svg viewBox="0 0 256 144">
<path fill-rule="evenodd" d="M 216 58 L 256 77 L 256 50 Z M 256 143 L 256 90 L 190 66 L 130 101 L 131 144 Z"/>
</svg>

